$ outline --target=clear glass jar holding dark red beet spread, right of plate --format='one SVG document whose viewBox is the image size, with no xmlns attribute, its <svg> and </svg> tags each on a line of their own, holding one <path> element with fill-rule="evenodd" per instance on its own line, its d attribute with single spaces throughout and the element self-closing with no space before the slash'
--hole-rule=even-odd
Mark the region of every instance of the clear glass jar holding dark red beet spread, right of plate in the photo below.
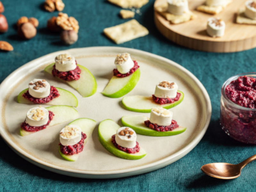
<svg viewBox="0 0 256 192">
<path fill-rule="evenodd" d="M 240 76 L 256 78 L 256 73 L 243 73 L 230 77 L 221 87 L 220 124 L 222 129 L 235 140 L 256 144 L 256 109 L 242 107 L 227 97 L 227 85 Z"/>
</svg>

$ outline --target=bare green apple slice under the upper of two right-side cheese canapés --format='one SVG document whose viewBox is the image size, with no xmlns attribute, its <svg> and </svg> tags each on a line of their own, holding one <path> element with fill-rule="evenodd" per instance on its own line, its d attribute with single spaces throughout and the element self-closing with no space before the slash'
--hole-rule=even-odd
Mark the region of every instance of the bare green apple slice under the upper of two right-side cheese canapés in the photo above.
<svg viewBox="0 0 256 192">
<path fill-rule="evenodd" d="M 177 91 L 177 92 L 181 94 L 180 99 L 173 103 L 167 103 L 164 105 L 155 103 L 155 101 L 152 99 L 152 96 L 141 96 L 141 95 L 132 95 L 132 96 L 124 97 L 122 100 L 122 103 L 124 107 L 130 111 L 135 111 L 140 113 L 150 113 L 151 109 L 155 107 L 163 107 L 165 109 L 169 109 L 180 104 L 184 98 L 184 93 L 181 91 Z"/>
</svg>

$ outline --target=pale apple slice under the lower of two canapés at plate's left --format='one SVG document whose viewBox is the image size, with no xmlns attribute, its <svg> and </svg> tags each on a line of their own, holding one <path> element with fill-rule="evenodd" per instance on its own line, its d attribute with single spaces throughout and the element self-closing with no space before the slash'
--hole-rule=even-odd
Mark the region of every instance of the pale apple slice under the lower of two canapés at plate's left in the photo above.
<svg viewBox="0 0 256 192">
<path fill-rule="evenodd" d="M 56 124 L 71 121 L 73 119 L 76 119 L 79 116 L 76 109 L 66 105 L 51 106 L 51 107 L 46 107 L 46 109 L 48 111 L 52 111 L 54 114 L 52 121 L 46 128 Z M 32 133 L 35 133 L 35 132 L 25 131 L 24 129 L 20 128 L 21 136 L 30 135 Z"/>
</svg>

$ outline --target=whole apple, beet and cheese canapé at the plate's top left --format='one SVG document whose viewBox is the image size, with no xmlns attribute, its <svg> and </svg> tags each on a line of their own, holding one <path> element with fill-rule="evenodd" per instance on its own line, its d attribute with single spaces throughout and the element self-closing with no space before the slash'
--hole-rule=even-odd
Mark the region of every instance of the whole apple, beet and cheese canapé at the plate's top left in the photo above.
<svg viewBox="0 0 256 192">
<path fill-rule="evenodd" d="M 97 83 L 92 73 L 84 66 L 78 65 L 71 55 L 56 56 L 55 63 L 47 66 L 44 71 L 62 79 L 83 97 L 89 97 L 97 90 Z"/>
</svg>

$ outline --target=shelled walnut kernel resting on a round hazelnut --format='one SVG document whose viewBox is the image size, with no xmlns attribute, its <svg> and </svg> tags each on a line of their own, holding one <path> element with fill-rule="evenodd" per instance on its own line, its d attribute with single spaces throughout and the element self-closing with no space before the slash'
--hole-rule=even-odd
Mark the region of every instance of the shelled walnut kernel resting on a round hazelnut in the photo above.
<svg viewBox="0 0 256 192">
<path fill-rule="evenodd" d="M 68 14 L 60 12 L 56 18 L 56 24 L 63 30 L 74 30 L 78 33 L 78 21 L 74 17 L 68 17 Z"/>
</svg>

